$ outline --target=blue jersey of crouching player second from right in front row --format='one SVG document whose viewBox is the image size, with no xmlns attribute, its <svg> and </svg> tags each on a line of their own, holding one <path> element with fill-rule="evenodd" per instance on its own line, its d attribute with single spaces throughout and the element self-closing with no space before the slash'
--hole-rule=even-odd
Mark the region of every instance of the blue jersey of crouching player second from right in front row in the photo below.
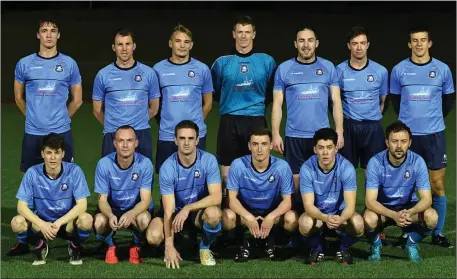
<svg viewBox="0 0 457 279">
<path fill-rule="evenodd" d="M 311 156 L 300 169 L 301 194 L 314 193 L 314 205 L 324 214 L 341 212 L 345 191 L 356 191 L 354 166 L 339 153 L 331 171 L 324 173 L 319 167 L 317 155 Z"/>
</svg>

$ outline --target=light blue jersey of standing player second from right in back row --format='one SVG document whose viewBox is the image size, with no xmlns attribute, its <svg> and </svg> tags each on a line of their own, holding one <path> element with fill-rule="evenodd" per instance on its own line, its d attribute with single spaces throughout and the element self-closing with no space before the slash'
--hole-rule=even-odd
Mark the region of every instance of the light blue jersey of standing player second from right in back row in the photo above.
<svg viewBox="0 0 457 279">
<path fill-rule="evenodd" d="M 341 90 L 343 116 L 353 120 L 380 120 L 379 98 L 389 90 L 387 69 L 368 59 L 362 69 L 353 68 L 349 60 L 336 67 Z"/>
</svg>

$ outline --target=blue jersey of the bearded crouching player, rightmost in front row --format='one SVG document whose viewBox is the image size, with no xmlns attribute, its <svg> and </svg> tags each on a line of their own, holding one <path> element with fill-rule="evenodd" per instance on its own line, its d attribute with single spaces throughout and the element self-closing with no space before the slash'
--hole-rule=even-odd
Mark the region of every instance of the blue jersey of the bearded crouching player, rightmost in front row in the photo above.
<svg viewBox="0 0 457 279">
<path fill-rule="evenodd" d="M 366 189 L 378 190 L 378 202 L 399 207 L 418 201 L 416 190 L 430 190 L 427 165 L 418 154 L 409 151 L 405 161 L 393 166 L 384 150 L 370 159 L 367 166 Z"/>
</svg>

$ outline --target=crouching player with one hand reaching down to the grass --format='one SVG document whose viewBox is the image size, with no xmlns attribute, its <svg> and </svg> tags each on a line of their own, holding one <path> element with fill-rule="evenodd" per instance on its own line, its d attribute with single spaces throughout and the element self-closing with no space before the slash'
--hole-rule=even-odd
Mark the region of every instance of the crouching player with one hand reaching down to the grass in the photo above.
<svg viewBox="0 0 457 279">
<path fill-rule="evenodd" d="M 183 120 L 175 127 L 178 151 L 162 165 L 159 174 L 162 208 L 149 224 L 148 243 L 159 246 L 165 241 L 167 268 L 179 268 L 182 259 L 175 239 L 183 230 L 201 232 L 200 263 L 216 264 L 210 245 L 221 230 L 221 176 L 217 160 L 211 153 L 197 148 L 198 125 Z"/>
</svg>

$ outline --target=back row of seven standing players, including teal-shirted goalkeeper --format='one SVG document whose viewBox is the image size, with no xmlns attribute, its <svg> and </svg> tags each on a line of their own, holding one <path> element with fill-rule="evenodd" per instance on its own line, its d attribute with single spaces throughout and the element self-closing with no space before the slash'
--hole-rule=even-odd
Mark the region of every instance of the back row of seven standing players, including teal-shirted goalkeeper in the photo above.
<svg viewBox="0 0 457 279">
<path fill-rule="evenodd" d="M 446 214 L 443 118 L 452 108 L 450 96 L 454 86 L 449 68 L 429 54 L 432 41 L 426 29 L 410 32 L 408 46 L 412 55 L 394 67 L 390 91 L 387 70 L 367 58 L 369 38 L 363 28 L 351 30 L 348 36 L 351 57 L 336 68 L 316 56 L 319 41 L 312 28 L 298 30 L 294 41 L 297 57 L 277 69 L 270 56 L 253 50 L 256 28 L 251 18 L 240 18 L 232 33 L 234 54 L 220 57 L 209 70 L 190 57 L 192 34 L 179 25 L 170 37 L 171 57 L 150 69 L 133 58 L 134 35 L 128 30 L 118 31 L 113 43 L 117 59 L 102 69 L 94 82 L 94 114 L 104 127 L 102 155 L 114 151 L 115 130 L 128 124 L 136 130 L 137 151 L 152 161 L 148 121 L 157 115 L 159 106 L 157 172 L 163 161 L 176 151 L 173 128 L 183 119 L 198 124 L 199 148 L 204 149 L 204 118 L 211 109 L 215 91 L 221 114 L 217 158 L 225 189 L 229 166 L 235 158 L 249 153 L 249 131 L 266 127 L 265 96 L 269 92 L 267 85 L 274 77 L 273 145 L 275 150 L 285 153 L 298 193 L 299 168 L 312 155 L 312 137 L 318 129 L 329 126 L 327 101 L 331 100 L 337 147 L 355 167 L 360 161 L 361 167 L 366 168 L 368 159 L 384 148 L 380 120 L 385 96 L 390 92 L 400 120 L 411 127 L 412 149 L 426 160 L 429 169 L 433 206 L 439 215 L 433 242 L 452 247 L 441 230 Z M 16 102 L 26 116 L 23 172 L 41 161 L 39 142 L 50 132 L 64 136 L 64 160 L 73 159 L 70 117 L 82 103 L 81 77 L 75 61 L 57 52 L 59 36 L 56 22 L 41 21 L 37 33 L 40 51 L 21 59 L 16 67 Z M 70 94 L 72 100 L 67 106 Z M 279 126 L 284 97 L 287 123 L 283 143 Z M 10 254 L 20 253 L 22 248 L 23 245 L 17 245 Z"/>
</svg>

